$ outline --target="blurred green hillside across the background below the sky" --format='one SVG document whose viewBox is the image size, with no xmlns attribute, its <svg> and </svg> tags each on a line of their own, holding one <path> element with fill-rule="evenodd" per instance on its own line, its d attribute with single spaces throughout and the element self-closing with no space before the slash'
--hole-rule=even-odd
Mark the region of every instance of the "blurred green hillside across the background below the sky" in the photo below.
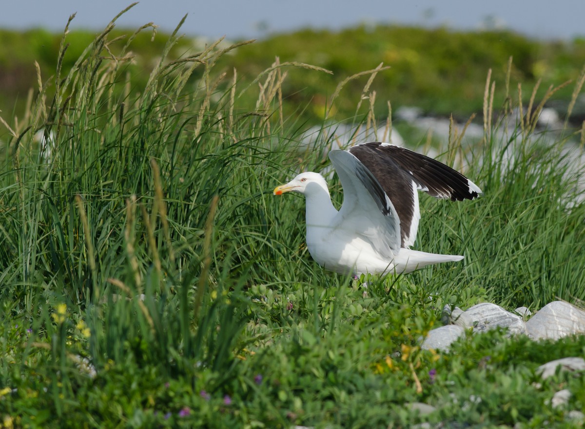
<svg viewBox="0 0 585 429">
<path fill-rule="evenodd" d="M 113 30 L 112 36 L 133 34 L 134 30 Z M 152 28 L 138 34 L 132 41 L 128 54 L 134 56 L 126 67 L 132 70 L 130 84 L 140 88 L 157 63 L 158 56 L 168 34 L 153 32 Z M 67 72 L 82 50 L 95 37 L 91 32 L 71 32 L 61 67 Z M 54 75 L 59 58 L 61 36 L 43 30 L 17 33 L 0 30 L 0 109 L 16 112 L 25 109 L 30 88 L 36 87 L 35 61 L 43 71 L 43 80 Z M 124 41 L 113 42 L 101 53 L 105 58 L 118 55 Z M 210 43 L 210 42 L 208 42 Z M 204 49 L 205 42 L 193 36 L 185 36 L 168 53 L 168 61 L 176 60 Z M 218 66 L 231 72 L 236 68 L 240 78 L 254 79 L 269 68 L 276 57 L 280 62 L 297 61 L 316 65 L 333 72 L 332 75 L 314 74 L 291 70 L 282 90 L 287 99 L 288 113 L 302 112 L 312 122 L 323 119 L 326 101 L 343 79 L 373 69 L 383 63 L 389 70 L 380 73 L 371 87 L 376 91 L 380 108 L 390 101 L 395 108 L 402 105 L 419 106 L 434 115 L 453 113 L 467 119 L 473 112 L 481 112 L 483 86 L 488 69 L 498 82 L 495 106 L 504 102 L 504 82 L 508 59 L 513 58 L 510 85 L 516 91 L 517 84 L 533 87 L 542 79 L 539 96 L 550 84 L 579 77 L 585 64 L 585 41 L 535 41 L 512 32 L 455 32 L 446 28 L 421 29 L 417 27 L 377 26 L 355 27 L 339 32 L 328 30 L 301 30 L 287 34 L 273 34 L 264 40 L 242 47 L 223 56 Z M 191 82 L 200 78 L 198 71 Z M 343 120 L 355 114 L 355 106 L 362 95 L 362 82 L 350 81 L 345 87 L 343 101 L 336 105 L 337 119 Z M 53 88 L 48 88 L 52 94 Z M 565 100 L 570 88 L 559 91 L 557 99 Z M 529 94 L 526 94 L 528 101 Z M 253 99 L 248 99 L 253 103 Z M 584 103 L 574 110 L 577 123 L 583 117 Z"/>
</svg>

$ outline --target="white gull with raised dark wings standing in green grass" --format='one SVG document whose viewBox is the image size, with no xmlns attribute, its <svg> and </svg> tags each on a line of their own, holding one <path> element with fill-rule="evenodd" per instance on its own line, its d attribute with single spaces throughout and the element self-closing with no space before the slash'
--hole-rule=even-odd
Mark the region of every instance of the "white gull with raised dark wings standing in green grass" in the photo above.
<svg viewBox="0 0 585 429">
<path fill-rule="evenodd" d="M 442 162 L 390 143 L 369 142 L 329 152 L 343 186 L 343 204 L 331 202 L 325 178 L 303 172 L 273 195 L 306 199 L 307 247 L 328 271 L 345 275 L 408 274 L 461 255 L 412 250 L 421 217 L 418 191 L 436 198 L 474 199 L 481 189 Z"/>
</svg>

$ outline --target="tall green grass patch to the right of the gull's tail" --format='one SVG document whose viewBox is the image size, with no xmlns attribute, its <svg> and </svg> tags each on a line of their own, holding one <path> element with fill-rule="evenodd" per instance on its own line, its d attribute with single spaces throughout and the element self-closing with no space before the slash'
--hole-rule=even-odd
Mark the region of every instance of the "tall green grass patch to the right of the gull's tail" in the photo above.
<svg viewBox="0 0 585 429">
<path fill-rule="evenodd" d="M 419 243 L 439 244 L 436 251 L 441 245 L 447 245 L 450 251 L 464 251 L 466 267 L 451 286 L 455 295 L 471 286 L 485 290 L 485 298 L 504 306 L 538 309 L 553 299 L 580 302 L 585 296 L 579 269 L 585 171 L 583 153 L 577 144 L 579 134 L 567 129 L 566 123 L 564 130 L 555 133 L 535 132 L 546 99 L 558 88 L 549 88 L 546 99 L 533 108 L 534 88 L 527 111 L 523 112 L 518 103 L 521 117 L 517 123 L 508 106 L 511 99 L 507 99 L 498 122 L 490 126 L 495 115 L 495 82 L 490 84 L 489 80 L 488 74 L 484 140 L 463 150 L 459 140 L 458 147 L 451 148 L 451 152 L 459 151 L 466 158 L 467 174 L 480 184 L 484 196 L 467 207 L 425 200 L 431 212 L 439 213 L 440 219 L 449 219 L 443 229 L 450 230 L 450 234 L 442 237 L 439 233 L 437 237 L 427 226 L 429 219 L 423 219 L 421 233 L 425 236 L 419 236 Z M 580 80 L 573 97 L 581 88 Z M 427 271 L 415 276 L 428 281 L 429 274 Z"/>
</svg>

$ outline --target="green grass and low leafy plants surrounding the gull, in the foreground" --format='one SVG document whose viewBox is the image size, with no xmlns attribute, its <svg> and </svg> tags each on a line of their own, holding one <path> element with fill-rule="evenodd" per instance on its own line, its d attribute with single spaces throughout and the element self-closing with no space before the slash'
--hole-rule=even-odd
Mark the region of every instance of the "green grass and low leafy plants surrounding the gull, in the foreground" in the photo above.
<svg viewBox="0 0 585 429">
<path fill-rule="evenodd" d="M 529 122 L 504 137 L 495 123 L 474 147 L 451 139 L 441 159 L 467 160 L 485 195 L 421 196 L 417 247 L 466 259 L 364 290 L 311 260 L 304 202 L 271 195 L 327 164 L 302 150 L 301 115 L 285 113 L 310 102 L 288 105 L 282 89 L 293 70 L 305 82 L 327 74 L 224 75 L 235 46 L 177 59 L 173 34 L 135 84 L 126 53 L 140 39 L 115 39 L 108 26 L 68 70 L 41 69 L 25 113 L 2 116 L 0 424 L 410 427 L 421 418 L 405 403 L 425 402 L 438 407 L 431 423 L 570 427 L 567 410 L 546 404 L 569 388 L 569 410 L 582 409 L 583 377 L 539 386 L 534 371 L 583 355 L 583 337 L 494 331 L 448 354 L 420 350 L 419 337 L 445 303 L 585 299 L 583 166 L 562 156 L 572 134 L 549 146 Z M 352 82 L 363 91 L 370 75 Z M 322 96 L 335 109 L 346 91 Z M 323 147 L 332 138 L 323 133 Z"/>
</svg>

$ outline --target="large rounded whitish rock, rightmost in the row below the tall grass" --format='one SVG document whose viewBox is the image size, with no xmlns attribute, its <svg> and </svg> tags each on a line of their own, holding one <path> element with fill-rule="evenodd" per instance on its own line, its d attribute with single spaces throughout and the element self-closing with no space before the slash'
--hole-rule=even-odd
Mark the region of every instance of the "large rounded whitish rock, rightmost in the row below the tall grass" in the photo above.
<svg viewBox="0 0 585 429">
<path fill-rule="evenodd" d="M 566 335 L 585 333 L 585 312 L 563 301 L 553 301 L 526 322 L 528 335 L 535 340 L 558 340 Z"/>
</svg>

